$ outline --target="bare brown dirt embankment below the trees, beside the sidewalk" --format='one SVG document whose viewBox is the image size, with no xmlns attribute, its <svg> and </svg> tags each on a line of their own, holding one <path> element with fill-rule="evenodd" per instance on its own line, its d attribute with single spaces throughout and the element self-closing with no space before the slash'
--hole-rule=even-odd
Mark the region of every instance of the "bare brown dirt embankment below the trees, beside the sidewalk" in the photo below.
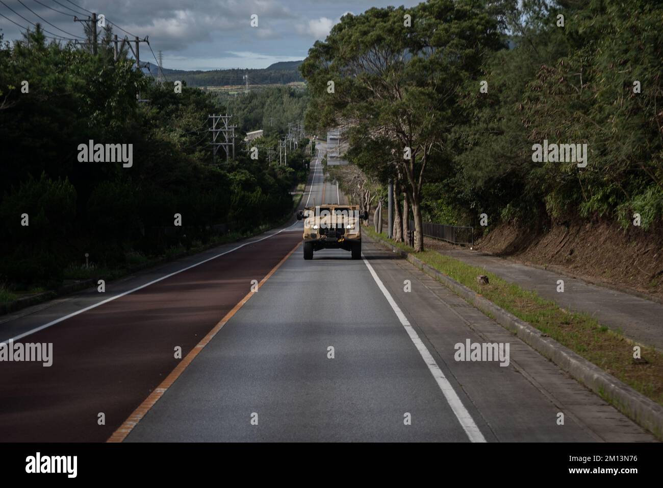
<svg viewBox="0 0 663 488">
<path fill-rule="evenodd" d="M 649 232 L 612 222 L 554 225 L 531 234 L 513 226 L 493 229 L 475 248 L 525 264 L 558 268 L 593 282 L 663 299 L 663 228 Z"/>
</svg>

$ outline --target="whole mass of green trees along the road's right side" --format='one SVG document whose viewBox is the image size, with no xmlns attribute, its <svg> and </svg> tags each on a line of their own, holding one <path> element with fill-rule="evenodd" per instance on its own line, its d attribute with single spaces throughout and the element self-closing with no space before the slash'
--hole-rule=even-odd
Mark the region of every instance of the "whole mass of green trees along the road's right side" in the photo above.
<svg viewBox="0 0 663 488">
<path fill-rule="evenodd" d="M 380 195 L 396 182 L 417 250 L 424 220 L 662 224 L 658 1 L 369 9 L 345 15 L 301 70 L 308 126 L 345 127 L 350 161 Z M 586 165 L 536 157 L 548 143 L 586 147 Z"/>
</svg>

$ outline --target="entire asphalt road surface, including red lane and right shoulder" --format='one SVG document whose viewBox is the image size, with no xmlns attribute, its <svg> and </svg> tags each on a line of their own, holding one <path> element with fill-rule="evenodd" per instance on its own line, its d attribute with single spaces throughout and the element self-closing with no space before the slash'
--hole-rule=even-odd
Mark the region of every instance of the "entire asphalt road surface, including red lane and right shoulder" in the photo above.
<svg viewBox="0 0 663 488">
<path fill-rule="evenodd" d="M 346 203 L 319 160 L 307 202 Z M 304 261 L 301 232 L 3 317 L 0 340 L 54 359 L 0 363 L 0 441 L 654 440 L 391 252 Z M 455 361 L 467 339 L 509 343 L 509 365 Z"/>
</svg>

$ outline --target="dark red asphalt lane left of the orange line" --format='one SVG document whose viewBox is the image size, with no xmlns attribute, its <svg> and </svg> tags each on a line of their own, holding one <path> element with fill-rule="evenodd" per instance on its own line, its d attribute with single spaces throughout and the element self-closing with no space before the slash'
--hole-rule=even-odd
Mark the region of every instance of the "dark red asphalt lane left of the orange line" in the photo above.
<svg viewBox="0 0 663 488">
<path fill-rule="evenodd" d="M 0 363 L 0 442 L 105 442 L 302 239 L 282 232 L 24 337 L 53 365 Z M 105 425 L 97 423 L 105 414 Z"/>
</svg>

